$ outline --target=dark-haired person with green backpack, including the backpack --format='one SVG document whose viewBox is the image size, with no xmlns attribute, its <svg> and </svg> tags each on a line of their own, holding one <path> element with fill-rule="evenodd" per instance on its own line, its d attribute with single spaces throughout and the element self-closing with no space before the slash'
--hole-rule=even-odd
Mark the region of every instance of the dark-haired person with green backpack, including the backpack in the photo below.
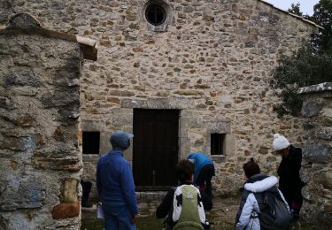
<svg viewBox="0 0 332 230">
<path fill-rule="evenodd" d="M 205 218 L 205 211 L 212 209 L 212 202 L 201 194 L 193 183 L 194 164 L 181 160 L 175 167 L 180 185 L 171 188 L 156 211 L 158 219 L 167 215 L 167 230 L 205 230 L 210 224 Z"/>
</svg>

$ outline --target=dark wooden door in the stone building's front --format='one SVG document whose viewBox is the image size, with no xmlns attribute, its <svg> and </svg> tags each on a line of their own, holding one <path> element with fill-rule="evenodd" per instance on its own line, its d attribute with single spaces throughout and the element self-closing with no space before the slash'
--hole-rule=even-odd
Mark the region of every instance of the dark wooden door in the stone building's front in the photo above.
<svg viewBox="0 0 332 230">
<path fill-rule="evenodd" d="M 177 184 L 179 111 L 134 110 L 133 173 L 138 190 Z"/>
</svg>

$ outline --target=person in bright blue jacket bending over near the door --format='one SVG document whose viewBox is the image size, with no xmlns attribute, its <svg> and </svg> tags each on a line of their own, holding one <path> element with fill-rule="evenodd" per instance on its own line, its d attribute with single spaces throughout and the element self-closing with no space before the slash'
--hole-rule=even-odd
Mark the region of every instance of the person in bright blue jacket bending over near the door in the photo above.
<svg viewBox="0 0 332 230">
<path fill-rule="evenodd" d="M 209 199 L 212 199 L 211 180 L 215 175 L 212 159 L 207 157 L 203 152 L 191 153 L 188 159 L 195 165 L 194 184 L 197 185 L 202 192 L 205 192 Z"/>
</svg>

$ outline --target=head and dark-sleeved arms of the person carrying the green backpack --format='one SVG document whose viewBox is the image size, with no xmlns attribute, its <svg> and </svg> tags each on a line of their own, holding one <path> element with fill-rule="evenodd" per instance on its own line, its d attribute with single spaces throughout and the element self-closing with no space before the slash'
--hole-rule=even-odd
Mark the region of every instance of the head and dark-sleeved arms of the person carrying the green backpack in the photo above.
<svg viewBox="0 0 332 230">
<path fill-rule="evenodd" d="M 181 185 L 192 185 L 193 183 L 193 173 L 194 173 L 194 164 L 189 160 L 181 160 L 175 167 L 176 177 Z M 176 188 L 171 188 L 166 194 L 163 201 L 159 204 L 156 216 L 158 219 L 165 218 L 166 219 L 166 229 L 172 229 L 176 224 L 174 223 L 173 216 L 173 202 L 174 202 L 174 193 Z M 204 193 L 201 194 L 202 203 L 205 211 L 210 211 L 212 209 L 212 201 L 205 196 Z"/>
</svg>

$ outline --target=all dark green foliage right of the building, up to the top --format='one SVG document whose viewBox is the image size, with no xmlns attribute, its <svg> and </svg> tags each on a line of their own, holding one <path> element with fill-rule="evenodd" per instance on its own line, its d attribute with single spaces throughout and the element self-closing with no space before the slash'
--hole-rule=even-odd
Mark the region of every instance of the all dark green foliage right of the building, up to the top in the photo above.
<svg viewBox="0 0 332 230">
<path fill-rule="evenodd" d="M 299 12 L 299 4 L 292 4 L 289 12 L 297 10 Z M 320 0 L 313 10 L 313 16 L 305 18 L 324 29 L 292 55 L 282 56 L 270 81 L 273 88 L 281 89 L 277 90 L 281 103 L 274 107 L 279 116 L 299 115 L 302 100 L 297 95 L 298 88 L 332 81 L 332 1 Z"/>
</svg>

